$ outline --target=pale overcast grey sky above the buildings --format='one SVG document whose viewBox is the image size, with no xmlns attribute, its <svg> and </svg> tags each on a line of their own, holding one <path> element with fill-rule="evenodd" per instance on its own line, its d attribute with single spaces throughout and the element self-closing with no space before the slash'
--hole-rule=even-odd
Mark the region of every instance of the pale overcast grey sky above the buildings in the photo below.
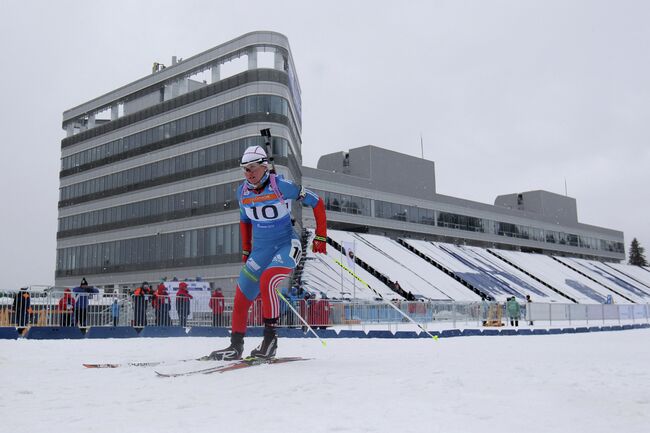
<svg viewBox="0 0 650 433">
<path fill-rule="evenodd" d="M 422 134 L 438 193 L 566 179 L 581 222 L 650 251 L 649 17 L 641 0 L 4 0 L 0 289 L 54 282 L 63 111 L 253 30 L 289 38 L 305 165 L 420 156 Z"/>
</svg>

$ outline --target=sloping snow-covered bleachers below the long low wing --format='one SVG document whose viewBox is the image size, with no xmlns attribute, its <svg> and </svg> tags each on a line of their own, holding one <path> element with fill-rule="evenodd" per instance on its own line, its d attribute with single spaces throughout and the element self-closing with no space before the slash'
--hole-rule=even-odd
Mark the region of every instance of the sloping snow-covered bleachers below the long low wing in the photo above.
<svg viewBox="0 0 650 433">
<path fill-rule="evenodd" d="M 340 230 L 328 236 L 363 264 L 332 245 L 325 256 L 308 252 L 303 284 L 330 298 L 377 299 L 367 283 L 384 299 L 402 299 L 394 290 L 399 282 L 403 293 L 432 301 L 474 302 L 483 293 L 498 302 L 530 295 L 537 303 L 650 303 L 650 270 L 638 266 Z"/>
</svg>

